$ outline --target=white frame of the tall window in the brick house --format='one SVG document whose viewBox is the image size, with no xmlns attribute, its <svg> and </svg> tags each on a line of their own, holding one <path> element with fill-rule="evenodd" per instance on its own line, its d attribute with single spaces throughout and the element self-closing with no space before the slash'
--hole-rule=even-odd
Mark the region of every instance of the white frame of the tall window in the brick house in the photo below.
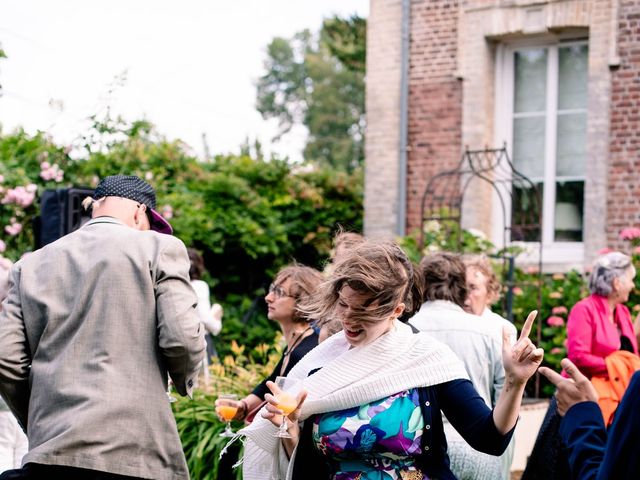
<svg viewBox="0 0 640 480">
<path fill-rule="evenodd" d="M 558 51 L 559 47 L 571 45 L 588 45 L 585 39 L 559 42 L 557 38 L 537 39 L 535 41 L 514 42 L 499 44 L 496 49 L 495 70 L 495 145 L 507 145 L 509 158 L 513 159 L 513 100 L 514 100 L 514 53 L 516 50 L 527 48 L 547 48 L 547 99 L 546 99 L 546 123 L 545 123 L 545 168 L 544 168 L 544 194 L 542 198 L 542 258 L 546 269 L 564 270 L 568 268 L 581 268 L 584 260 L 584 217 L 583 212 L 583 241 L 582 242 L 556 242 L 554 236 L 556 182 L 560 180 L 582 180 L 581 177 L 556 177 L 556 144 L 557 144 L 557 107 L 558 107 Z M 576 110 L 578 111 L 578 110 Z M 579 111 L 582 111 L 580 109 Z M 555 112 L 550 114 L 549 112 Z M 568 111 L 567 111 L 568 112 Z M 506 199 L 503 212 L 499 202 L 493 201 L 493 231 L 492 237 L 496 244 L 502 243 L 504 221 L 511 224 L 511 204 L 509 186 L 503 188 L 502 197 Z M 498 211 L 500 210 L 500 211 Z M 503 220 L 504 218 L 504 220 Z M 507 239 L 509 241 L 509 239 Z M 511 242 L 518 243 L 525 249 L 524 262 L 537 263 L 539 242 Z"/>
</svg>

